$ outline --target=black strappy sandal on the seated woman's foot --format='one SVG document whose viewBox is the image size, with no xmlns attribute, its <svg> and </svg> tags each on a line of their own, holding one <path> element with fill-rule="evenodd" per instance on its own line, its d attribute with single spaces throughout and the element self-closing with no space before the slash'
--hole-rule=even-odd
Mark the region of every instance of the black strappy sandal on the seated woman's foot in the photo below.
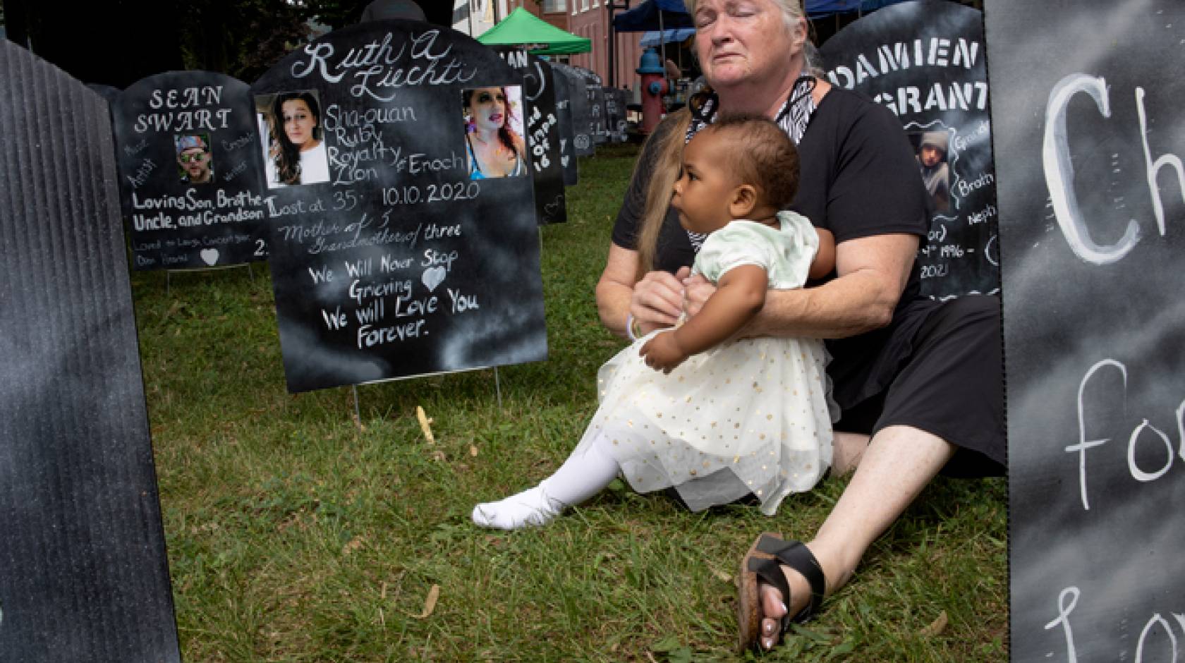
<svg viewBox="0 0 1185 663">
<path fill-rule="evenodd" d="M 758 579 L 773 585 L 782 592 L 786 605 L 790 604 L 790 586 L 786 581 L 781 566 L 798 571 L 811 585 L 811 600 L 798 614 L 786 614 L 779 624 L 777 639 L 774 646 L 782 642 L 782 635 L 790 624 L 801 624 L 814 616 L 822 604 L 822 594 L 827 581 L 819 560 L 811 549 L 800 541 L 784 541 L 777 534 L 763 533 L 754 541 L 744 559 L 741 560 L 741 596 L 737 603 L 737 625 L 741 630 L 739 650 L 761 648 L 761 592 Z"/>
</svg>

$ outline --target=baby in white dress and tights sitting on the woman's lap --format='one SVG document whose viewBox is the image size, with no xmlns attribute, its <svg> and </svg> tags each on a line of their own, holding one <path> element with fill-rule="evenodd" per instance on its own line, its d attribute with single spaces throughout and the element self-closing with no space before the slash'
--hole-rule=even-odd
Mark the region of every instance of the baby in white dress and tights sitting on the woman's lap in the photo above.
<svg viewBox="0 0 1185 663">
<path fill-rule="evenodd" d="M 666 152 L 674 159 L 680 150 Z M 717 291 L 686 323 L 609 360 L 598 375 L 601 406 L 569 459 L 534 488 L 478 504 L 475 523 L 544 524 L 619 472 L 639 493 L 674 488 L 692 510 L 752 495 L 773 515 L 828 468 L 822 342 L 734 340 L 767 290 L 800 288 L 808 272 L 834 268 L 831 233 L 782 211 L 798 189 L 794 143 L 769 120 L 734 117 L 697 133 L 681 154 L 671 206 L 685 228 L 707 234 L 693 272 Z"/>
</svg>

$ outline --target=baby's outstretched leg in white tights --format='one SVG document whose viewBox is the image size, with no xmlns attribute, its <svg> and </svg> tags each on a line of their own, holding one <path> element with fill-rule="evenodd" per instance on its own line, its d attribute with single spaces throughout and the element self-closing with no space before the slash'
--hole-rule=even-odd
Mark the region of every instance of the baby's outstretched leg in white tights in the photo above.
<svg viewBox="0 0 1185 663">
<path fill-rule="evenodd" d="M 619 471 L 617 461 L 608 451 L 608 438 L 598 436 L 582 451 L 572 452 L 556 474 L 539 485 L 474 507 L 473 522 L 498 529 L 546 524 L 564 508 L 603 490 Z"/>
</svg>

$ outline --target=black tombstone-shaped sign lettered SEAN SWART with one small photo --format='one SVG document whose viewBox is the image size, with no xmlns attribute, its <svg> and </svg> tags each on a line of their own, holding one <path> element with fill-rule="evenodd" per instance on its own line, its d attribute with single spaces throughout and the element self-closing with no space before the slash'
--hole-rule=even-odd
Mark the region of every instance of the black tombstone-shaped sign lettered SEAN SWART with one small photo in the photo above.
<svg viewBox="0 0 1185 663">
<path fill-rule="evenodd" d="M 143 78 L 111 104 L 123 218 L 139 270 L 268 256 L 250 89 L 209 71 Z"/>
</svg>

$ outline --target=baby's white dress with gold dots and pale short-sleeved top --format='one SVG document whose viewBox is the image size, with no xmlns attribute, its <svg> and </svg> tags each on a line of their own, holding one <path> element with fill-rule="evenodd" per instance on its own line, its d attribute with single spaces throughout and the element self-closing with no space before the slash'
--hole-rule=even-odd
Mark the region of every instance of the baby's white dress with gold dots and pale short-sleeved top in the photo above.
<svg viewBox="0 0 1185 663">
<path fill-rule="evenodd" d="M 732 221 L 713 232 L 693 272 L 716 283 L 756 264 L 770 289 L 802 287 L 818 234 L 800 214 L 779 219 L 781 228 Z M 726 342 L 662 374 L 638 354 L 651 335 L 601 367 L 601 405 L 581 446 L 603 436 L 634 490 L 673 487 L 692 510 L 751 493 L 773 515 L 786 495 L 814 487 L 832 452 L 822 341 Z"/>
</svg>

